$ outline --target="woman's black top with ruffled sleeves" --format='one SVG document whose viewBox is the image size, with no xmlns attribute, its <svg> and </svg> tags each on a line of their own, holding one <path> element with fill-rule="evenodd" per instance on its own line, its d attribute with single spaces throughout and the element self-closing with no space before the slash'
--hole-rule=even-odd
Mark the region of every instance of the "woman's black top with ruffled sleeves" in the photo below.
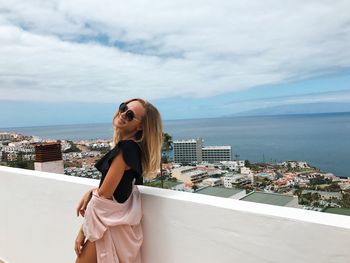
<svg viewBox="0 0 350 263">
<path fill-rule="evenodd" d="M 132 181 L 134 178 L 136 178 L 135 184 L 143 184 L 140 146 L 132 140 L 119 141 L 112 150 L 97 161 L 95 167 L 102 173 L 99 186 L 101 187 L 108 169 L 111 166 L 112 160 L 120 153 L 123 154 L 124 162 L 130 167 L 130 169 L 125 170 L 113 196 L 119 203 L 124 203 L 131 194 Z"/>
</svg>

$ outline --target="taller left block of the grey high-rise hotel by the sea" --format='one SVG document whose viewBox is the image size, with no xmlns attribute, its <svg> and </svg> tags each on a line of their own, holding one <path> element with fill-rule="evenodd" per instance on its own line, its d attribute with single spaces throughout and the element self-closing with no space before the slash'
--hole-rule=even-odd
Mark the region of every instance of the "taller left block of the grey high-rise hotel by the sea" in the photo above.
<svg viewBox="0 0 350 263">
<path fill-rule="evenodd" d="M 175 163 L 201 163 L 203 139 L 174 141 Z"/>
</svg>

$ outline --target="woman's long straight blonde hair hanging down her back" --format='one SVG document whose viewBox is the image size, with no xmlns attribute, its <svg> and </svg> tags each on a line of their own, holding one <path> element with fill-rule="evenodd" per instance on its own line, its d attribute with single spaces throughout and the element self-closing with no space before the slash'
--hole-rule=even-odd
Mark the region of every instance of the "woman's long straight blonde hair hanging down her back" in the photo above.
<svg viewBox="0 0 350 263">
<path fill-rule="evenodd" d="M 151 103 L 135 98 L 126 101 L 128 104 L 131 101 L 138 101 L 145 109 L 145 113 L 141 119 L 142 131 L 135 134 L 135 141 L 141 148 L 141 164 L 142 175 L 147 178 L 155 177 L 161 161 L 161 149 L 163 145 L 163 124 L 159 111 Z M 118 112 L 115 113 L 112 119 L 114 125 L 114 119 L 118 116 Z M 114 127 L 113 146 L 117 145 L 120 141 L 119 130 Z"/>
</svg>

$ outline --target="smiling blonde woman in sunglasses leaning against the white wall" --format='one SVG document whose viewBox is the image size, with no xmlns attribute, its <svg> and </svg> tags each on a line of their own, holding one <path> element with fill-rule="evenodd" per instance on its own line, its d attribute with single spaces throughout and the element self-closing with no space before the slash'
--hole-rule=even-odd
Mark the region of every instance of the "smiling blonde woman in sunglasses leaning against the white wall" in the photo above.
<svg viewBox="0 0 350 263">
<path fill-rule="evenodd" d="M 152 104 L 131 99 L 119 106 L 113 126 L 115 147 L 95 165 L 102 173 L 99 188 L 88 191 L 77 208 L 84 217 L 75 242 L 78 263 L 141 260 L 141 199 L 135 184 L 159 168 L 161 117 Z"/>
</svg>

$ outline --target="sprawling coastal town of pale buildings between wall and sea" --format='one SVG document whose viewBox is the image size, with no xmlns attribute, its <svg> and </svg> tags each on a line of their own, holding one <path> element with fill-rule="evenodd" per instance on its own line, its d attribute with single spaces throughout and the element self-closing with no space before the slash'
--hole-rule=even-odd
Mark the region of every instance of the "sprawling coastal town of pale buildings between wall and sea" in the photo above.
<svg viewBox="0 0 350 263">
<path fill-rule="evenodd" d="M 100 179 L 95 163 L 111 140 L 42 140 L 0 132 L 0 165 Z M 202 138 L 164 134 L 162 166 L 144 185 L 270 205 L 350 215 L 350 178 L 302 160 L 252 163 L 231 146 L 205 146 Z"/>
</svg>

